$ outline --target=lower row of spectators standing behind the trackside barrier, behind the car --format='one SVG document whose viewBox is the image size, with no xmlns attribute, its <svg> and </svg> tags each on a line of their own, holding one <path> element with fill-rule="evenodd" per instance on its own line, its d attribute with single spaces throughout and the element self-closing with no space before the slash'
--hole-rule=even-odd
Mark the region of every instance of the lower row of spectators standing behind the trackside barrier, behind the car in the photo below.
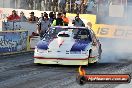
<svg viewBox="0 0 132 88">
<path fill-rule="evenodd" d="M 2 22 L 3 31 L 26 29 L 29 31 L 29 35 L 34 35 L 32 34 L 33 32 L 41 35 L 41 33 L 44 34 L 50 26 L 68 26 L 70 23 L 74 26 L 85 26 L 79 14 L 76 14 L 75 18 L 72 20 L 66 16 L 66 12 L 43 12 L 39 17 L 37 17 L 33 11 L 29 14 L 30 17 L 28 18 L 24 15 L 24 12 L 20 12 L 19 15 L 16 10 L 13 10 L 12 14 L 7 17 L 7 21 Z"/>
</svg>

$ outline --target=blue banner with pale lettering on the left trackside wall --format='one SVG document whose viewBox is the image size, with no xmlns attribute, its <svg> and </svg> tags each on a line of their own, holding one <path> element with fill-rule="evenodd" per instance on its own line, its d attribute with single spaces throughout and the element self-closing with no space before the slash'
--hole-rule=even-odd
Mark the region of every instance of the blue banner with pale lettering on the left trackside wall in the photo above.
<svg viewBox="0 0 132 88">
<path fill-rule="evenodd" d="M 0 54 L 27 51 L 28 32 L 0 32 Z"/>
</svg>

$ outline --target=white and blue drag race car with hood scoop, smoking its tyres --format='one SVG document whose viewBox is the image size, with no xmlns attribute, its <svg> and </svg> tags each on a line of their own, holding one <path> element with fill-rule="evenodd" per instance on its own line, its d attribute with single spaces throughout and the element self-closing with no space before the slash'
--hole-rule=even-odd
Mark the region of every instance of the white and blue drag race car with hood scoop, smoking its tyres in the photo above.
<svg viewBox="0 0 132 88">
<path fill-rule="evenodd" d="M 86 27 L 50 27 L 34 50 L 34 63 L 88 65 L 101 59 L 101 44 Z"/>
</svg>

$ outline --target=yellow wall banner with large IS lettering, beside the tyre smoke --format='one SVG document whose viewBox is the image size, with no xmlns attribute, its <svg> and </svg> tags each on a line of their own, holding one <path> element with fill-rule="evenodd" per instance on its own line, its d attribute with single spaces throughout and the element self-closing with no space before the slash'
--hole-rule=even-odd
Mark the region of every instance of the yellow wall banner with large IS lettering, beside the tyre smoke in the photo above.
<svg viewBox="0 0 132 88">
<path fill-rule="evenodd" d="M 98 37 L 132 39 L 132 26 L 95 24 L 93 31 Z"/>
</svg>

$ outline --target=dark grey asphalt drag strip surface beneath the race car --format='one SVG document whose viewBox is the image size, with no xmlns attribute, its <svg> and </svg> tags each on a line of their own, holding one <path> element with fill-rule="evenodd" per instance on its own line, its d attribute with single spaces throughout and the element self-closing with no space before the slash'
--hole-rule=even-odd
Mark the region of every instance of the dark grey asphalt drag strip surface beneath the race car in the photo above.
<svg viewBox="0 0 132 88">
<path fill-rule="evenodd" d="M 35 65 L 33 53 L 0 58 L 0 88 L 114 88 L 120 84 L 76 82 L 79 66 Z M 87 74 L 132 73 L 132 63 L 98 63 L 84 67 Z"/>
</svg>

